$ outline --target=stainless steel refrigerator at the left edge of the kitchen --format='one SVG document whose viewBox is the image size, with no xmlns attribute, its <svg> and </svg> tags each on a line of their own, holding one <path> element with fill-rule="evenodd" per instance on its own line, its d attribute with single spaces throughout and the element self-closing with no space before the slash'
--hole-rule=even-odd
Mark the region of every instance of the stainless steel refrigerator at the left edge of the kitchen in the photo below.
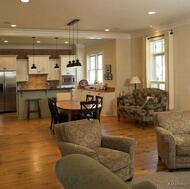
<svg viewBox="0 0 190 189">
<path fill-rule="evenodd" d="M 0 112 L 16 111 L 16 71 L 0 71 Z"/>
</svg>

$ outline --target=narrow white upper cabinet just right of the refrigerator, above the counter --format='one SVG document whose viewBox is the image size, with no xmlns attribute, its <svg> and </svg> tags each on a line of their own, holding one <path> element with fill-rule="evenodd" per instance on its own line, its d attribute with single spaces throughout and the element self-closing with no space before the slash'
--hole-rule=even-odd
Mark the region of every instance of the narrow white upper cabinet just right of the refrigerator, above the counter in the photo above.
<svg viewBox="0 0 190 189">
<path fill-rule="evenodd" d="M 16 80 L 17 82 L 28 81 L 28 60 L 18 59 L 16 62 Z"/>
</svg>

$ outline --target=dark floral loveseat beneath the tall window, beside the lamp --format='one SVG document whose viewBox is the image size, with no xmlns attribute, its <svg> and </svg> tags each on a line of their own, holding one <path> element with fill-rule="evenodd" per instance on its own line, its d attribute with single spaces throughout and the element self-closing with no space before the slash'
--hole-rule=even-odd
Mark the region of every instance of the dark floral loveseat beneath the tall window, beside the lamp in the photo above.
<svg viewBox="0 0 190 189">
<path fill-rule="evenodd" d="M 131 95 L 117 98 L 117 116 L 143 123 L 154 121 L 154 112 L 167 110 L 168 92 L 157 88 L 134 89 Z"/>
</svg>

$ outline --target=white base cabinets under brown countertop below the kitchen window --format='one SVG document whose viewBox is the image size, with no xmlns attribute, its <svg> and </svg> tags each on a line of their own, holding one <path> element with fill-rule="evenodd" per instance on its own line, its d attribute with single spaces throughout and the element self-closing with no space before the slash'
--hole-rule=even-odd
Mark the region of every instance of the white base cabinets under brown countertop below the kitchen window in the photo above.
<svg viewBox="0 0 190 189">
<path fill-rule="evenodd" d="M 109 116 L 115 114 L 115 92 L 98 92 L 96 90 L 90 91 L 90 90 L 78 89 L 77 99 L 80 101 L 85 101 L 87 94 L 93 95 L 94 100 L 96 96 L 103 97 L 103 107 L 101 115 Z"/>
</svg>

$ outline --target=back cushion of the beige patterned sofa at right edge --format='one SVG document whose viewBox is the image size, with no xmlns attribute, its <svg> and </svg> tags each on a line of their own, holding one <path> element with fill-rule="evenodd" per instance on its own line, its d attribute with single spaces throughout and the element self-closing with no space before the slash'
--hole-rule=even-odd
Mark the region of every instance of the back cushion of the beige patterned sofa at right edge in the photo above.
<svg viewBox="0 0 190 189">
<path fill-rule="evenodd" d="M 172 134 L 190 134 L 190 111 L 161 112 L 157 119 L 159 125 Z"/>
</svg>

